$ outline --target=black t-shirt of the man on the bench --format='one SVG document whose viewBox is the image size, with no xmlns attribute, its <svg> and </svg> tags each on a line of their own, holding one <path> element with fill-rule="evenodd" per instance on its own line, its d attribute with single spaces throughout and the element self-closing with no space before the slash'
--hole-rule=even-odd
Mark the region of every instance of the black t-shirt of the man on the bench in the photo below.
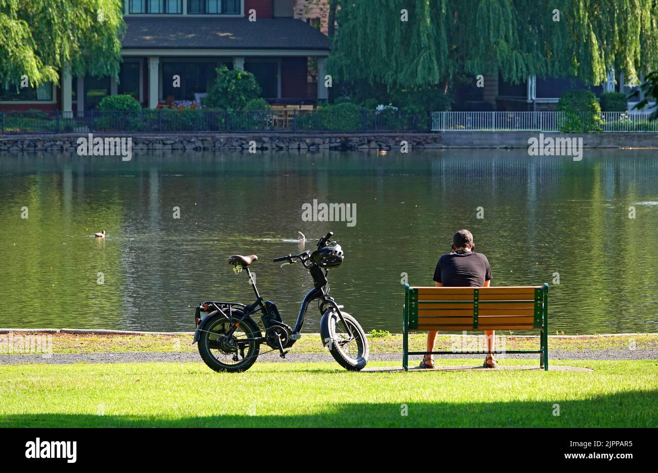
<svg viewBox="0 0 658 473">
<path fill-rule="evenodd" d="M 489 260 L 481 253 L 457 250 L 440 257 L 434 270 L 434 280 L 443 286 L 482 287 L 492 278 Z"/>
</svg>

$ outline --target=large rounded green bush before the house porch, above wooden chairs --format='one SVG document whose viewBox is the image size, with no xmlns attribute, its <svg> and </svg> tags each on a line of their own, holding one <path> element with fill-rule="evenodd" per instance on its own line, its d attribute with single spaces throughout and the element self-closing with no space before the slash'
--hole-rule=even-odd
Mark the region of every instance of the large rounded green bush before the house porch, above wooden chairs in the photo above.
<svg viewBox="0 0 658 473">
<path fill-rule="evenodd" d="M 203 107 L 218 110 L 240 110 L 261 93 L 256 77 L 246 70 L 229 70 L 226 66 L 216 68 L 217 77 Z"/>
</svg>

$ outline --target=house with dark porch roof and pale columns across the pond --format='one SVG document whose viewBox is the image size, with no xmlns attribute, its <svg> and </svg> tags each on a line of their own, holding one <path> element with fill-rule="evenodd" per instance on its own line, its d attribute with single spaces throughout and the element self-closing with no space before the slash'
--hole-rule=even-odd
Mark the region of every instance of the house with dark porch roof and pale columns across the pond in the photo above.
<svg viewBox="0 0 658 473">
<path fill-rule="evenodd" d="M 272 103 L 326 99 L 331 41 L 295 18 L 293 0 L 124 0 L 119 78 L 72 77 L 26 89 L 0 88 L 0 109 L 88 111 L 126 93 L 143 107 L 199 101 L 215 68 L 252 72 Z M 309 72 L 312 72 L 309 74 Z"/>
</svg>

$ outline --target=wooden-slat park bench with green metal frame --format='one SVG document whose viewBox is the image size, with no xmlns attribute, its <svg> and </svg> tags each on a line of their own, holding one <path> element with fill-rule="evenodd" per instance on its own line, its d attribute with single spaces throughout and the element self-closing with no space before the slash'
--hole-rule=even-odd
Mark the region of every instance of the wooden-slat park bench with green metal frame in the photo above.
<svg viewBox="0 0 658 473">
<path fill-rule="evenodd" d="M 468 353 L 410 352 L 410 330 L 540 330 L 539 350 L 496 350 L 493 353 L 538 353 L 540 367 L 548 370 L 548 284 L 515 287 L 410 287 L 405 284 L 402 313 L 402 366 L 405 371 L 409 355 Z"/>
</svg>

